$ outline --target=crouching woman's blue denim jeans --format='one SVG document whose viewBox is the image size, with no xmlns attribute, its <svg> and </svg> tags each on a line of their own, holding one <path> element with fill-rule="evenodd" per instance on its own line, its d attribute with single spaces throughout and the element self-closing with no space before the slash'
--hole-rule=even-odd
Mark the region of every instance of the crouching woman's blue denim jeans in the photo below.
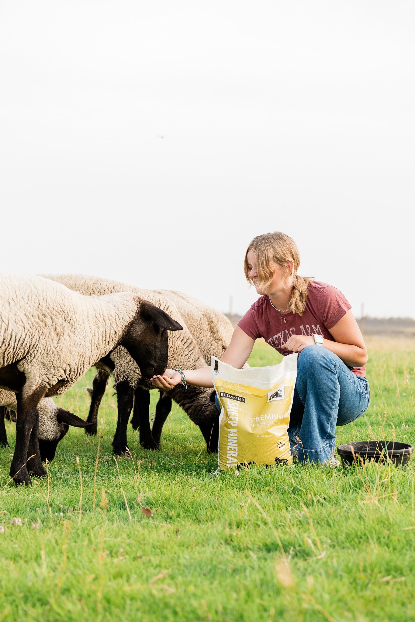
<svg viewBox="0 0 415 622">
<path fill-rule="evenodd" d="M 336 425 L 350 424 L 369 406 L 366 378 L 356 376 L 337 355 L 307 346 L 297 361 L 297 381 L 288 436 L 299 462 L 325 462 L 334 454 Z M 220 410 L 217 397 L 215 404 Z"/>
</svg>

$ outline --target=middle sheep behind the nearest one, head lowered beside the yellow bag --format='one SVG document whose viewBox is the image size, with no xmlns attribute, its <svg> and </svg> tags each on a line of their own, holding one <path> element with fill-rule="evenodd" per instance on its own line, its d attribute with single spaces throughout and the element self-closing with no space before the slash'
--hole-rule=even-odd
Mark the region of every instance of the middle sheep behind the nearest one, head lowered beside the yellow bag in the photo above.
<svg viewBox="0 0 415 622">
<path fill-rule="evenodd" d="M 168 305 L 167 308 L 169 309 L 175 308 L 173 303 L 166 296 L 152 290 L 140 289 L 139 287 L 127 285 L 118 281 L 111 281 L 110 279 L 101 279 L 100 277 L 78 274 L 44 274 L 42 276 L 60 282 L 66 287 L 81 292 L 82 294 L 103 295 L 123 290 L 138 294 L 140 297 L 161 308 L 165 308 L 166 305 Z M 184 305 L 184 301 L 180 300 L 180 304 Z M 182 313 L 180 313 L 179 317 L 182 317 Z M 215 334 L 216 332 L 217 329 L 215 328 Z M 212 343 L 212 341 L 210 336 L 207 335 L 203 345 L 205 353 L 209 351 L 209 343 Z M 212 346 L 210 346 L 210 348 L 210 353 L 212 353 Z M 218 355 L 221 356 L 222 354 L 223 346 L 220 345 L 220 348 L 218 347 Z M 205 354 L 205 357 L 207 358 L 207 354 Z M 202 356 L 197 341 L 192 337 L 192 333 L 187 330 L 186 326 L 185 330 L 180 334 L 169 334 L 169 367 L 190 367 L 192 369 L 198 369 L 205 366 L 205 357 Z M 110 373 L 114 374 L 114 388 L 116 389 L 118 397 L 118 424 L 113 440 L 114 453 L 129 453 L 127 427 L 134 401 L 136 402 L 136 406 L 134 406 L 133 421 L 138 422 L 139 419 L 136 428 L 139 428 L 140 444 L 147 449 L 158 448 L 162 427 L 170 412 L 172 399 L 177 402 L 187 415 L 189 415 L 190 419 L 200 427 L 200 431 L 207 444 L 208 452 L 217 451 L 219 417 L 217 407 L 214 403 L 215 392 L 212 389 L 202 389 L 191 386 L 185 389 L 183 385 L 179 385 L 170 390 L 167 394 L 162 394 L 156 407 L 156 416 L 151 429 L 149 423 L 150 397 L 148 389 L 152 389 L 153 385 L 151 382 L 142 379 L 139 369 L 123 348 L 117 348 L 111 353 L 111 356 L 106 359 L 106 367 L 103 365 L 99 366 L 98 373 L 93 381 L 92 391 L 90 391 L 92 399 L 90 413 L 87 419 L 88 422 L 93 422 L 95 426 L 91 425 L 89 429 L 86 429 L 85 432 L 87 434 L 96 434 L 98 408 L 105 392 Z"/>
</svg>

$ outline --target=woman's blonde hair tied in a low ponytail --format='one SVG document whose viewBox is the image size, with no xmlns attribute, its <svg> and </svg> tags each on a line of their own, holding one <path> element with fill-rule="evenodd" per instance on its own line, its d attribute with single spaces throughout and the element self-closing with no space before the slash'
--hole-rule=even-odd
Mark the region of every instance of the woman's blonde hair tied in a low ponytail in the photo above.
<svg viewBox="0 0 415 622">
<path fill-rule="evenodd" d="M 256 272 L 259 277 L 257 287 L 261 287 L 261 289 L 266 289 L 273 280 L 275 274 L 273 261 L 281 267 L 287 267 L 287 261 L 292 261 L 294 264 L 291 272 L 293 289 L 289 309 L 291 313 L 302 315 L 307 303 L 307 290 L 309 284 L 314 281 L 314 277 L 298 276 L 297 270 L 300 266 L 300 255 L 294 240 L 289 235 L 281 233 L 281 231 L 264 233 L 253 239 L 246 249 L 243 264 L 246 280 L 249 285 L 253 285 L 248 276 L 249 251 L 253 251 L 256 256 Z"/>
</svg>

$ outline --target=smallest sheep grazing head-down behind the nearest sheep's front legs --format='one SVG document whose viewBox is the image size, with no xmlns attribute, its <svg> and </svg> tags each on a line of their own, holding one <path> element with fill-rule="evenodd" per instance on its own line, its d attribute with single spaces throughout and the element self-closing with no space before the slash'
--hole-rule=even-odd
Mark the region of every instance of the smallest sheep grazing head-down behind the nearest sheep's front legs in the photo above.
<svg viewBox="0 0 415 622">
<path fill-rule="evenodd" d="M 0 404 L 0 447 L 9 447 L 4 418 L 7 409 L 17 410 L 16 394 L 0 389 Z M 45 460 L 52 462 L 57 444 L 67 434 L 70 425 L 83 428 L 90 425 L 72 412 L 57 406 L 52 397 L 41 399 L 37 409 L 39 411 L 39 451 L 42 462 Z M 16 422 L 17 418 L 11 416 L 11 420 Z"/>
</svg>

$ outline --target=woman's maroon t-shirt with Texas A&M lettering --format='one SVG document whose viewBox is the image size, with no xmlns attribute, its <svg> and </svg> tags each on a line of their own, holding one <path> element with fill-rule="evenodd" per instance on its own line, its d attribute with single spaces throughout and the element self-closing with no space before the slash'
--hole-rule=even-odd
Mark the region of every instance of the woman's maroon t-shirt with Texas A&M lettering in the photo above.
<svg viewBox="0 0 415 622">
<path fill-rule="evenodd" d="M 334 341 L 330 328 L 337 324 L 352 305 L 345 299 L 340 290 L 319 281 L 312 281 L 307 290 L 307 303 L 304 313 L 281 313 L 273 308 L 268 295 L 261 296 L 243 318 L 238 326 L 251 339 L 263 337 L 280 354 L 287 356 L 291 352 L 281 350 L 291 335 L 310 337 L 317 333 L 325 339 Z M 284 323 L 284 318 L 286 323 Z M 353 374 L 365 376 L 365 367 L 353 367 Z"/>
</svg>

